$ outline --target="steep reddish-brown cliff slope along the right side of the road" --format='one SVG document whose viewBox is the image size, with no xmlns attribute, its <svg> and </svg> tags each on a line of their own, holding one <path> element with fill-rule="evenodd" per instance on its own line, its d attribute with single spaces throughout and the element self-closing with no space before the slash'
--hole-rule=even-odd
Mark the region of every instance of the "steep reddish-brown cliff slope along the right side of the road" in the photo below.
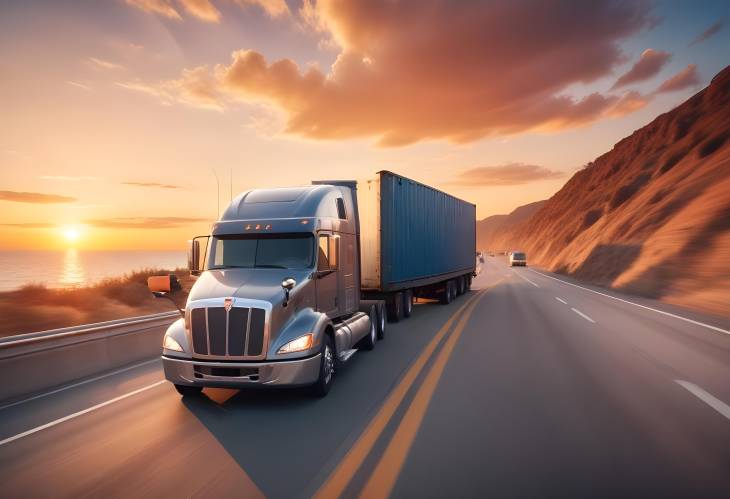
<svg viewBox="0 0 730 499">
<path fill-rule="evenodd" d="M 730 315 L 730 67 L 576 173 L 490 248 L 576 278 Z"/>
</svg>

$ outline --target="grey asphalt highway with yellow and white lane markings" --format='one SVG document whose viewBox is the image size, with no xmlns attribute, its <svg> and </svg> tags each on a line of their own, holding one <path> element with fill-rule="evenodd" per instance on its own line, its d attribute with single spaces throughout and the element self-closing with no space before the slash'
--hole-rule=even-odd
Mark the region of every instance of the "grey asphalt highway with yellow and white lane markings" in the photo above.
<svg viewBox="0 0 730 499">
<path fill-rule="evenodd" d="M 152 359 L 0 407 L 0 496 L 730 494 L 730 323 L 500 258 L 325 399 L 162 379 Z"/>
</svg>

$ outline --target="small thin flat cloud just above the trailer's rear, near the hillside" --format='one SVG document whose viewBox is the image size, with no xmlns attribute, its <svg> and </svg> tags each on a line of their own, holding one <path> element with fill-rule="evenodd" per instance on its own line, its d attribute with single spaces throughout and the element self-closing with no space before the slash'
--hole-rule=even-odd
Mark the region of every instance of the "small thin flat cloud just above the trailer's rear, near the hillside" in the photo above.
<svg viewBox="0 0 730 499">
<path fill-rule="evenodd" d="M 522 185 L 540 180 L 560 178 L 565 174 L 543 166 L 509 163 L 501 166 L 479 166 L 461 172 L 452 185 L 464 187 L 486 187 L 501 185 Z"/>
</svg>

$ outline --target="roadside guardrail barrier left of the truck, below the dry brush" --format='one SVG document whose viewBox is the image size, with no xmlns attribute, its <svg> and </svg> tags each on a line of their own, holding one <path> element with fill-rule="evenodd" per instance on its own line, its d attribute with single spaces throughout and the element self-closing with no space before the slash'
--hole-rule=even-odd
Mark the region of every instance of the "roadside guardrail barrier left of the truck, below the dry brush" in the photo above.
<svg viewBox="0 0 730 499">
<path fill-rule="evenodd" d="M 48 390 L 162 353 L 179 312 L 130 317 L 0 339 L 0 400 Z"/>
</svg>

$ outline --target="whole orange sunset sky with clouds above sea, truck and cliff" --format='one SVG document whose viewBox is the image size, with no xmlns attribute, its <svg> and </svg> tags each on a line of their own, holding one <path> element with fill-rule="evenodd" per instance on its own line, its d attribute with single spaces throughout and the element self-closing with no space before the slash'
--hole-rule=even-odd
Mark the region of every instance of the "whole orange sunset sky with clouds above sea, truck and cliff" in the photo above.
<svg viewBox="0 0 730 499">
<path fill-rule="evenodd" d="M 257 187 L 547 199 L 728 64 L 730 2 L 0 4 L 0 249 L 182 249 Z"/>
</svg>

